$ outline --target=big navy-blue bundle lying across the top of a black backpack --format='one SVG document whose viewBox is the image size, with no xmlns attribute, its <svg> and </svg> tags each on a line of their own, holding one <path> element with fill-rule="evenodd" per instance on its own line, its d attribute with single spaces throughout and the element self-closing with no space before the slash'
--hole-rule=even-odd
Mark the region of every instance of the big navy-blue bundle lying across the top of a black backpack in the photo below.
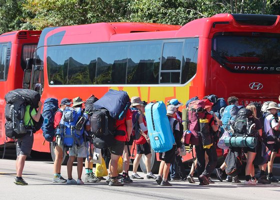
<svg viewBox="0 0 280 200">
<path fill-rule="evenodd" d="M 93 103 L 94 109 L 105 108 L 113 119 L 122 120 L 131 103 L 125 91 L 109 89 L 98 101 Z"/>
</svg>

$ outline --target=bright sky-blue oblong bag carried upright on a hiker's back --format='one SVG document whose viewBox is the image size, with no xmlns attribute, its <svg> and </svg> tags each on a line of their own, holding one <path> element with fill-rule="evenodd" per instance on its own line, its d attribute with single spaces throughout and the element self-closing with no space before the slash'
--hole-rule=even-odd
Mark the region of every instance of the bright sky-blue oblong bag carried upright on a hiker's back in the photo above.
<svg viewBox="0 0 280 200">
<path fill-rule="evenodd" d="M 154 152 L 167 152 L 175 142 L 166 107 L 162 101 L 151 102 L 145 106 L 146 122 L 150 138 L 150 146 Z"/>
</svg>

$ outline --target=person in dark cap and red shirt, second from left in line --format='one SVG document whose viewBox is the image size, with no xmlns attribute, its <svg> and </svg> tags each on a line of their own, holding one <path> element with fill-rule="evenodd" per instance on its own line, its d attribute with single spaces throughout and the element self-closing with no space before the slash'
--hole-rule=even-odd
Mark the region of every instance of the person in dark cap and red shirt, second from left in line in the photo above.
<svg viewBox="0 0 280 200">
<path fill-rule="evenodd" d="M 55 141 L 54 141 L 54 154 L 55 160 L 53 162 L 53 179 L 52 183 L 66 183 L 66 179 L 64 179 L 61 174 L 61 162 L 63 158 L 63 141 L 61 140 L 61 135 L 59 131 L 59 124 L 62 118 L 63 110 L 71 105 L 71 100 L 68 98 L 63 98 L 60 102 L 60 108 L 54 114 L 53 120 L 53 128 L 56 129 Z"/>
</svg>

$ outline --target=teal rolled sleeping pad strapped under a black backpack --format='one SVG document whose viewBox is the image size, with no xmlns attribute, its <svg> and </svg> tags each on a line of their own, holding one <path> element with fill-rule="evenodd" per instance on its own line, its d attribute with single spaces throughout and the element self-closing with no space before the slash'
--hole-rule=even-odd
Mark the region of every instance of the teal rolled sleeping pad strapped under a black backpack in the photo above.
<svg viewBox="0 0 280 200">
<path fill-rule="evenodd" d="M 224 138 L 224 144 L 227 147 L 249 147 L 253 149 L 257 145 L 257 140 L 255 137 L 226 137 Z"/>
</svg>

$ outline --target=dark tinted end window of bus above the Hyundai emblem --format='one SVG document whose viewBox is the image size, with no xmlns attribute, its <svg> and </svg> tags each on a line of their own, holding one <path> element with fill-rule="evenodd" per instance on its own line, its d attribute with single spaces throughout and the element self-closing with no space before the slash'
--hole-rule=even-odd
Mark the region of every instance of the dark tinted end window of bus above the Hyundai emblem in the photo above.
<svg viewBox="0 0 280 200">
<path fill-rule="evenodd" d="M 280 34 L 218 35 L 212 41 L 212 57 L 230 71 L 280 73 Z"/>
</svg>

